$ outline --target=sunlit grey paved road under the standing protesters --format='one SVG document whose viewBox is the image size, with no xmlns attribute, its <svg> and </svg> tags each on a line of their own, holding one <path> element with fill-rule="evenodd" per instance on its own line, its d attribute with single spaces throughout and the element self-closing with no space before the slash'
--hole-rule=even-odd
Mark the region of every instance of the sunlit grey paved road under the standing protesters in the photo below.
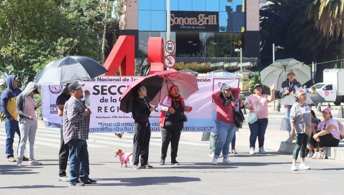
<svg viewBox="0 0 344 195">
<path fill-rule="evenodd" d="M 278 121 L 271 119 L 269 128 L 275 125 Z M 234 164 L 222 164 L 219 159 L 218 165 L 211 165 L 208 142 L 199 141 L 201 134 L 193 132 L 182 133 L 177 158 L 181 165 L 158 164 L 160 133 L 152 133 L 149 162 L 154 168 L 141 170 L 119 167 L 119 159 L 114 156 L 116 148 L 131 150 L 132 134 L 125 133 L 118 139 L 113 133 L 92 133 L 88 140 L 90 177 L 98 183 L 68 186 L 68 182 L 57 181 L 59 133 L 46 128 L 37 130 L 35 158 L 42 166 L 15 167 L 2 155 L 1 194 L 343 194 L 342 161 L 307 159 L 311 170 L 290 171 L 290 154 L 267 151 L 249 155 L 248 146 L 237 145 L 239 154 L 229 157 Z M 2 153 L 5 138 L 1 123 Z"/>
</svg>

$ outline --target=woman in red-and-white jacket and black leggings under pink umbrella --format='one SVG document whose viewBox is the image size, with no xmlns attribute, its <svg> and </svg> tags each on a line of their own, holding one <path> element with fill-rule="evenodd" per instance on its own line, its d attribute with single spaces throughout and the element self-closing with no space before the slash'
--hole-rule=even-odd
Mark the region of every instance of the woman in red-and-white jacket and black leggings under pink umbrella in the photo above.
<svg viewBox="0 0 344 195">
<path fill-rule="evenodd" d="M 182 115 L 184 112 L 190 112 L 192 107 L 187 103 L 186 99 L 180 96 L 179 87 L 172 85 L 169 95 L 164 96 L 158 108 L 161 110 L 160 129 L 161 129 L 161 159 L 160 165 L 165 164 L 167 149 L 171 142 L 171 163 L 179 165 L 176 161 L 180 134 L 184 127 Z"/>
</svg>

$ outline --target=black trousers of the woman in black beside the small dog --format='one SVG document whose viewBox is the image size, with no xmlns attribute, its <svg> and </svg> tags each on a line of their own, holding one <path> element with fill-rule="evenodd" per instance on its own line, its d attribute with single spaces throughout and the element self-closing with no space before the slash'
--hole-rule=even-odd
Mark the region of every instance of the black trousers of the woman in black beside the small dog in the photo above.
<svg viewBox="0 0 344 195">
<path fill-rule="evenodd" d="M 150 123 L 142 122 L 134 123 L 133 127 L 134 138 L 132 148 L 132 163 L 139 164 L 139 156 L 141 155 L 141 164 L 148 164 L 148 153 L 149 153 L 149 141 L 150 141 Z"/>
</svg>

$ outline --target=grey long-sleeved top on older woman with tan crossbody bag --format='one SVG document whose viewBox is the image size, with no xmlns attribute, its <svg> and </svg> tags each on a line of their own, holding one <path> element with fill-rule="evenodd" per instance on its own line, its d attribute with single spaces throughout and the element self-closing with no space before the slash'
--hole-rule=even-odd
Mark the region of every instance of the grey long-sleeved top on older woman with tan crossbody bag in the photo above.
<svg viewBox="0 0 344 195">
<path fill-rule="evenodd" d="M 302 117 L 305 121 L 302 120 L 300 110 L 302 111 Z M 295 102 L 293 106 L 290 108 L 289 119 L 290 122 L 295 122 L 295 133 L 304 133 L 303 122 L 305 122 L 309 126 L 312 126 L 311 108 L 306 103 L 302 105 L 298 102 Z"/>
</svg>

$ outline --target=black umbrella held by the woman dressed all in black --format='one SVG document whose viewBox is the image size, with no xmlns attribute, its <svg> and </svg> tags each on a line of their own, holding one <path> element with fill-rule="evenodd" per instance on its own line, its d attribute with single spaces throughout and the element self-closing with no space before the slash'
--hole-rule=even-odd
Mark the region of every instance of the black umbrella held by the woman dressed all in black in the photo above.
<svg viewBox="0 0 344 195">
<path fill-rule="evenodd" d="M 133 92 L 137 85 L 144 85 L 147 89 L 148 102 L 151 101 L 161 90 L 163 78 L 159 75 L 148 75 L 141 77 L 135 82 L 131 83 L 121 96 L 121 103 L 119 109 L 125 113 L 131 112 L 132 100 L 134 99 Z"/>
</svg>

